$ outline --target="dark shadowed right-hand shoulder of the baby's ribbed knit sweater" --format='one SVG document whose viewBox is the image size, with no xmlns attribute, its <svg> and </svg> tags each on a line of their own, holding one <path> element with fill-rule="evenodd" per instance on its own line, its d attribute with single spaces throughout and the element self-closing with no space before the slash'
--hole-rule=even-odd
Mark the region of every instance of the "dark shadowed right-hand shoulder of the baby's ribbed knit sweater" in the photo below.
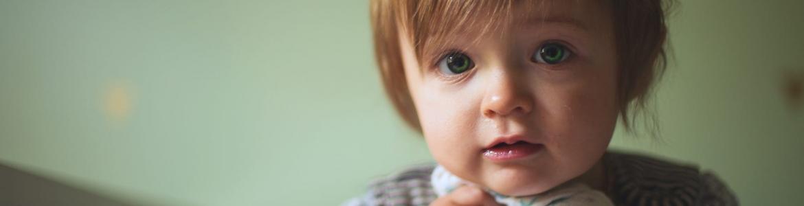
<svg viewBox="0 0 804 206">
<path fill-rule="evenodd" d="M 616 205 L 737 205 L 716 175 L 642 155 L 608 153 L 609 198 Z"/>
</svg>

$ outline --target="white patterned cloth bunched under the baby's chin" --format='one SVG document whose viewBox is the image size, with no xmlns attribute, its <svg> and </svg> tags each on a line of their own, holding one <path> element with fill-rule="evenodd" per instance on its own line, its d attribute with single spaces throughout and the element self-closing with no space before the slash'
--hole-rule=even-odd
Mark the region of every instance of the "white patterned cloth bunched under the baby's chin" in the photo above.
<svg viewBox="0 0 804 206">
<path fill-rule="evenodd" d="M 445 196 L 452 192 L 455 188 L 461 185 L 475 185 L 474 183 L 467 182 L 452 173 L 449 173 L 441 165 L 433 170 L 433 175 L 430 177 L 430 182 L 433 184 L 433 190 L 438 196 Z M 497 192 L 489 189 L 484 189 L 486 192 L 494 196 L 494 200 L 499 204 L 508 206 L 527 206 L 527 205 L 562 205 L 562 206 L 610 206 L 613 205 L 611 200 L 603 194 L 587 187 L 581 183 L 568 183 L 559 187 L 553 188 L 548 192 L 532 195 L 532 196 L 503 196 Z"/>
</svg>

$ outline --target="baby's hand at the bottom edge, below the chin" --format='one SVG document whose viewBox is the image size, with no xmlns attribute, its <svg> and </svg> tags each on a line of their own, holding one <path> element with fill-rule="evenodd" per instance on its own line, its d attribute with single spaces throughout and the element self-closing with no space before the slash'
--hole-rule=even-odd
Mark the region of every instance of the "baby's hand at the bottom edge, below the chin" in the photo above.
<svg viewBox="0 0 804 206">
<path fill-rule="evenodd" d="M 452 205 L 472 205 L 472 206 L 494 206 L 501 205 L 494 201 L 494 197 L 489 193 L 483 192 L 478 187 L 461 186 L 446 196 L 438 197 L 430 206 L 452 206 Z"/>
</svg>

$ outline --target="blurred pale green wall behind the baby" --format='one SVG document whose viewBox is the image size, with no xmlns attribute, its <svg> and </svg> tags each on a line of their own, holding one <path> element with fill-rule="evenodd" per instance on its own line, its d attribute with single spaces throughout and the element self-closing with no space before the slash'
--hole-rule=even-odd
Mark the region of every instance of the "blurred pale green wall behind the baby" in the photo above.
<svg viewBox="0 0 804 206">
<path fill-rule="evenodd" d="M 682 1 L 662 138 L 745 205 L 804 180 L 802 1 Z M 339 204 L 431 161 L 384 98 L 363 1 L 0 1 L 0 163 L 149 205 Z M 2 186 L 0 186 L 2 187 Z"/>
</svg>

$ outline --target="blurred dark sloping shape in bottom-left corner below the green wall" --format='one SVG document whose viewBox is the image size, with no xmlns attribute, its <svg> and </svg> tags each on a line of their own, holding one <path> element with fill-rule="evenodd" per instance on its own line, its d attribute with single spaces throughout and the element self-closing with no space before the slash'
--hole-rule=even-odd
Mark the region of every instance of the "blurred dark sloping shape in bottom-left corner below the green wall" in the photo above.
<svg viewBox="0 0 804 206">
<path fill-rule="evenodd" d="M 109 205 L 122 206 L 118 200 L 68 186 L 0 163 L 0 205 Z"/>
</svg>

